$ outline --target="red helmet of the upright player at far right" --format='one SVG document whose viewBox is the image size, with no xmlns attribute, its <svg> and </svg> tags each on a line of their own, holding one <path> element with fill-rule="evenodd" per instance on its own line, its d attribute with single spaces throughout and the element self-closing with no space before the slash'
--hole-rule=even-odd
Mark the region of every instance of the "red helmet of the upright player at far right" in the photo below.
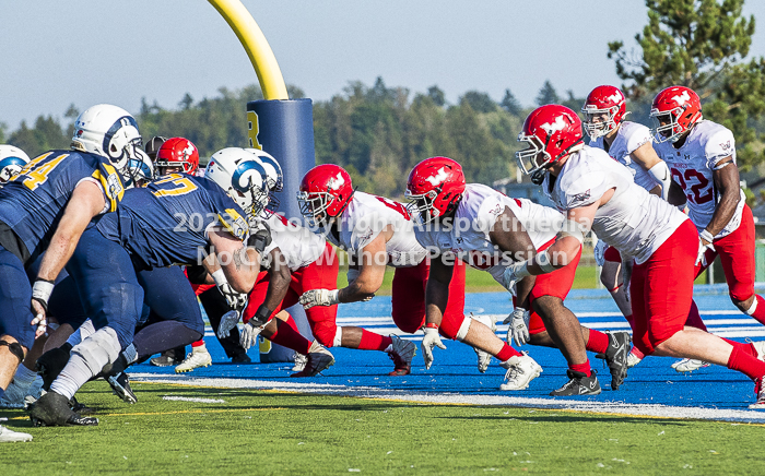
<svg viewBox="0 0 765 476">
<path fill-rule="evenodd" d="M 693 124 L 702 120 L 702 100 L 693 90 L 671 86 L 654 98 L 650 108 L 656 142 L 676 142 Z"/>
</svg>

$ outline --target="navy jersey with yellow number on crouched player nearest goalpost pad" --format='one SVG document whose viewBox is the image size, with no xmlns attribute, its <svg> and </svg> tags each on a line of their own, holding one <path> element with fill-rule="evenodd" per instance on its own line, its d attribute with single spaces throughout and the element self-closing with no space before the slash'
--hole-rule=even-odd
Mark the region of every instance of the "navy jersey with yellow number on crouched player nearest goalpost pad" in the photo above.
<svg viewBox="0 0 765 476">
<path fill-rule="evenodd" d="M 245 213 L 215 182 L 169 174 L 128 190 L 117 211 L 101 217 L 96 227 L 139 264 L 164 267 L 198 264 L 210 245 L 208 231 L 219 224 L 243 241 L 249 237 Z"/>
</svg>

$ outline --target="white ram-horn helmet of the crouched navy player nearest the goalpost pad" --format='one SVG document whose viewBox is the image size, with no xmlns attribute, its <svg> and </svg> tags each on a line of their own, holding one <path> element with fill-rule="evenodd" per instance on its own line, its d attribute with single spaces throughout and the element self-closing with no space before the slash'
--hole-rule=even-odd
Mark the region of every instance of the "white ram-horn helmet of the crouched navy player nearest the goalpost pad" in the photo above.
<svg viewBox="0 0 765 476">
<path fill-rule="evenodd" d="M 214 181 L 255 222 L 268 205 L 268 174 L 251 152 L 240 147 L 226 147 L 210 157 L 204 177 Z"/>
</svg>

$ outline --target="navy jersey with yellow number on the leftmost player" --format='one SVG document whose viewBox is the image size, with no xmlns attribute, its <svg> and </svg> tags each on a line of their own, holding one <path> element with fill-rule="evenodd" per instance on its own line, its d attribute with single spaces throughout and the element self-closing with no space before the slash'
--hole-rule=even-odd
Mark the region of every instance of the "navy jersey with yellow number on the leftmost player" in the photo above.
<svg viewBox="0 0 765 476">
<path fill-rule="evenodd" d="M 5 223 L 33 257 L 45 251 L 74 188 L 95 180 L 108 210 L 117 209 L 125 186 L 105 157 L 75 151 L 50 151 L 31 160 L 0 189 L 0 222 Z"/>
</svg>

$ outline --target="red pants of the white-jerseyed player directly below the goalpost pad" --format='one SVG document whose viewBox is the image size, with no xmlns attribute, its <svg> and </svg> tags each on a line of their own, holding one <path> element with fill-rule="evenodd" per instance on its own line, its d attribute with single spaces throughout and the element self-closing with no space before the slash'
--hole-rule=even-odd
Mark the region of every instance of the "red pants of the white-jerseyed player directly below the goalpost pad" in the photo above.
<svg viewBox="0 0 765 476">
<path fill-rule="evenodd" d="M 268 272 L 261 272 L 255 282 L 255 287 L 249 295 L 249 302 L 245 309 L 243 321 L 247 323 L 261 304 L 266 300 L 266 291 L 270 275 Z M 282 309 L 295 306 L 303 294 L 310 289 L 337 289 L 338 288 L 338 260 L 334 255 L 334 249 L 327 243 L 325 252 L 318 260 L 292 272 L 290 281 L 290 289 L 282 302 L 273 309 L 271 318 L 276 316 Z M 336 318 L 338 316 L 338 306 L 314 306 L 306 309 L 306 317 L 310 324 L 310 331 L 325 347 L 331 347 L 334 342 L 334 334 L 338 331 Z"/>
</svg>

